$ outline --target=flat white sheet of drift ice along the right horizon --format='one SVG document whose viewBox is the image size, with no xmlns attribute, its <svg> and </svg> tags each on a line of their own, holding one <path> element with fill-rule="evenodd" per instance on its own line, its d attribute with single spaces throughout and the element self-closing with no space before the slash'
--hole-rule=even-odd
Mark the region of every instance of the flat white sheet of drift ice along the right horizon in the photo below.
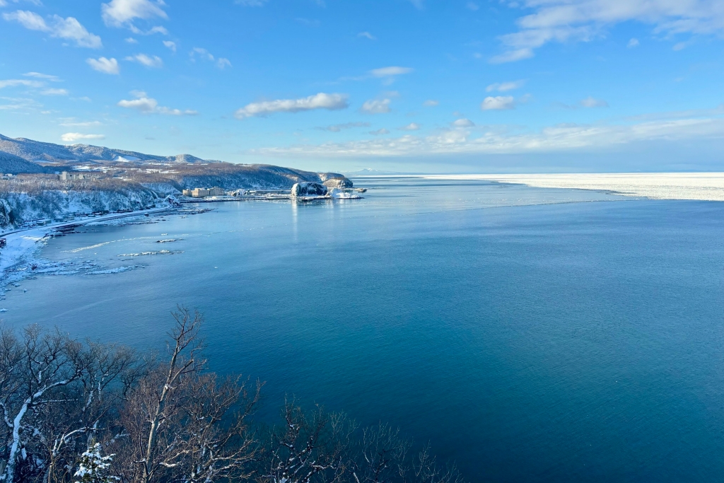
<svg viewBox="0 0 724 483">
<path fill-rule="evenodd" d="M 602 173 L 570 175 L 422 175 L 426 179 L 490 180 L 539 188 L 614 191 L 666 200 L 724 201 L 724 173 Z"/>
</svg>

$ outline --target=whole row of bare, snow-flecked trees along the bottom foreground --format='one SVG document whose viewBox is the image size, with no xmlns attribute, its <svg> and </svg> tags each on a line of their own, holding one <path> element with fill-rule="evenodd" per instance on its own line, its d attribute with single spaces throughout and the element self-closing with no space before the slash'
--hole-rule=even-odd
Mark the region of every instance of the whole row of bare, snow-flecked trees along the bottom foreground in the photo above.
<svg viewBox="0 0 724 483">
<path fill-rule="evenodd" d="M 203 358 L 202 316 L 173 314 L 167 350 L 58 330 L 0 327 L 0 481 L 79 483 L 462 483 L 429 447 L 285 401 L 253 421 L 263 383 Z"/>
</svg>

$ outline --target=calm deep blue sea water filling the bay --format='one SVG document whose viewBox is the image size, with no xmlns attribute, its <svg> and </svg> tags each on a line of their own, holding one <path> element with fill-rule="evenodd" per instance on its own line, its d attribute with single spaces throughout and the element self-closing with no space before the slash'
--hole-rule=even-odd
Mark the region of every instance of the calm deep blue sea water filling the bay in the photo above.
<svg viewBox="0 0 724 483">
<path fill-rule="evenodd" d="M 724 481 L 724 203 L 357 184 L 51 240 L 143 268 L 22 282 L 4 319 L 161 348 L 184 303 L 262 418 L 288 394 L 389 421 L 473 482 Z"/>
</svg>

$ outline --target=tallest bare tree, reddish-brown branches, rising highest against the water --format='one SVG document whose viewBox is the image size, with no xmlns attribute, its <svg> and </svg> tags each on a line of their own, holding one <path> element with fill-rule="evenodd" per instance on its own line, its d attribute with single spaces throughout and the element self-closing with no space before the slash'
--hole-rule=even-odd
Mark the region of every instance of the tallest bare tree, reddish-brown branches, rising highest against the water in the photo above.
<svg viewBox="0 0 724 483">
<path fill-rule="evenodd" d="M 202 374 L 201 315 L 179 307 L 169 362 L 129 393 L 122 411 L 125 438 L 114 466 L 127 482 L 213 482 L 249 476 L 256 444 L 248 416 L 261 383 L 250 391 L 239 377 L 219 382 Z"/>
</svg>

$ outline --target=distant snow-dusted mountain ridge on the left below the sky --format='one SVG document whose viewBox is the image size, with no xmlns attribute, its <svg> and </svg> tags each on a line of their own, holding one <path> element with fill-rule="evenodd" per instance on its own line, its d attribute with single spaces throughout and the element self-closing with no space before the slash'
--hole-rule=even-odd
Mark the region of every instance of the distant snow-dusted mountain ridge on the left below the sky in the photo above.
<svg viewBox="0 0 724 483">
<path fill-rule="evenodd" d="M 103 146 L 90 146 L 88 144 L 74 144 L 63 146 L 61 144 L 43 143 L 25 138 L 8 138 L 0 134 L 0 170 L 12 172 L 12 169 L 4 168 L 8 155 L 24 159 L 33 163 L 59 163 L 69 164 L 75 162 L 93 163 L 116 162 L 116 163 L 172 163 L 172 164 L 198 164 L 218 161 L 209 161 L 190 154 L 177 154 L 176 156 L 156 156 L 154 154 L 126 151 L 125 149 L 111 149 Z M 11 158 L 14 159 L 14 158 Z M 31 169 L 31 167 L 26 166 Z M 19 171 L 20 172 L 20 171 Z M 38 172 L 38 171 L 22 171 Z"/>
</svg>

